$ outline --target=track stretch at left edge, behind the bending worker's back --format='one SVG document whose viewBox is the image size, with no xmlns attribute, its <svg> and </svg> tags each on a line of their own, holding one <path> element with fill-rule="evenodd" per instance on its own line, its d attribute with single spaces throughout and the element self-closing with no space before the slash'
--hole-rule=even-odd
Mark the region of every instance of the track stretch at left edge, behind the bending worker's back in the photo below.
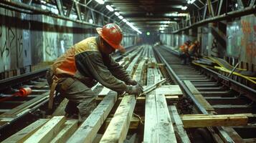
<svg viewBox="0 0 256 143">
<path fill-rule="evenodd" d="M 0 82 L 0 140 L 8 137 L 26 124 L 42 117 L 39 108 L 47 101 L 49 87 L 44 78 L 47 69 L 1 80 Z M 27 97 L 14 96 L 19 89 L 29 87 Z M 21 124 L 22 122 L 22 124 Z"/>
</svg>

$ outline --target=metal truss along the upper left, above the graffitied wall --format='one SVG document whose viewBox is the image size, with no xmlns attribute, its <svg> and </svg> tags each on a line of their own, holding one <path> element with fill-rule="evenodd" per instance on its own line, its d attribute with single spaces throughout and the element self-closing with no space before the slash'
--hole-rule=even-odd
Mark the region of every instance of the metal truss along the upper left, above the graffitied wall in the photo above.
<svg viewBox="0 0 256 143">
<path fill-rule="evenodd" d="M 82 1 L 82 2 L 80 2 Z M 1 0 L 0 7 L 5 9 L 10 9 L 13 11 L 19 11 L 26 14 L 44 14 L 47 16 L 52 16 L 57 19 L 63 19 L 66 21 L 72 21 L 78 24 L 85 24 L 94 27 L 103 26 L 108 23 L 117 23 L 121 24 L 122 21 L 116 21 L 115 19 L 111 18 L 113 16 L 109 14 L 109 12 L 105 12 L 105 9 L 100 9 L 100 11 L 95 10 L 98 4 L 95 6 L 91 6 L 90 4 L 92 0 L 71 0 L 69 1 L 70 4 L 66 4 L 64 6 L 62 0 L 52 0 L 47 1 L 49 4 L 56 6 L 58 14 L 54 14 L 52 11 L 48 9 L 42 9 L 41 5 L 47 6 L 47 2 L 44 1 L 44 4 L 41 3 L 42 1 L 39 0 L 28 0 L 26 2 L 19 2 L 19 1 L 9 1 L 9 0 Z M 33 3 L 33 4 L 32 4 Z M 41 4 L 40 4 L 41 3 Z M 88 6 L 90 4 L 90 6 Z M 105 8 L 105 7 L 104 7 Z M 103 11 L 103 12 L 101 12 Z M 77 19 L 70 18 L 70 15 L 77 16 Z M 110 15 L 110 16 L 109 16 Z M 93 19 L 93 22 L 88 22 L 89 19 Z M 118 19 L 119 20 L 119 19 Z M 123 24 L 122 29 L 125 35 L 135 36 L 136 32 L 133 31 L 130 27 Z"/>
</svg>

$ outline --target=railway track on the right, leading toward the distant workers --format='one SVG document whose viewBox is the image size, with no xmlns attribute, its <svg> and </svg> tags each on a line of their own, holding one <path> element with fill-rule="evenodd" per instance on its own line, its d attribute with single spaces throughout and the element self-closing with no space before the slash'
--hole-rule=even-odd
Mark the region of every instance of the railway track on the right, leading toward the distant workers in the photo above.
<svg viewBox="0 0 256 143">
<path fill-rule="evenodd" d="M 174 82 L 179 84 L 186 97 L 194 102 L 197 114 L 252 114 L 248 126 L 217 127 L 209 130 L 217 131 L 224 142 L 255 142 L 256 135 L 253 132 L 256 129 L 254 100 L 256 92 L 254 89 L 239 83 L 237 86 L 240 89 L 232 89 L 232 87 L 223 84 L 227 82 L 227 79 L 221 78 L 222 75 L 217 74 L 216 71 L 207 68 L 202 69 L 194 65 L 181 65 L 181 61 L 174 54 L 174 51 L 164 46 L 156 46 L 154 50 L 158 60 L 166 64 L 166 69 Z M 228 80 L 232 81 L 232 79 Z M 246 91 L 246 89 L 248 90 Z M 203 99 L 196 98 L 194 95 L 202 95 Z M 182 111 L 181 105 L 181 114 L 187 110 Z M 191 114 L 195 114 L 193 109 L 191 111 Z"/>
</svg>

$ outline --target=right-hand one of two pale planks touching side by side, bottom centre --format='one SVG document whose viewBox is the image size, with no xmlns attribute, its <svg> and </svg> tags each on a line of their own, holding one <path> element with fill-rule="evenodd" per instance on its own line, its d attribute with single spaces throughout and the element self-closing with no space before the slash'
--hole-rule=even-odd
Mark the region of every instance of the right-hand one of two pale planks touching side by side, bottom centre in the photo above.
<svg viewBox="0 0 256 143">
<path fill-rule="evenodd" d="M 163 94 L 156 92 L 156 112 L 158 119 L 158 142 L 176 142 L 174 127 Z"/>
</svg>

